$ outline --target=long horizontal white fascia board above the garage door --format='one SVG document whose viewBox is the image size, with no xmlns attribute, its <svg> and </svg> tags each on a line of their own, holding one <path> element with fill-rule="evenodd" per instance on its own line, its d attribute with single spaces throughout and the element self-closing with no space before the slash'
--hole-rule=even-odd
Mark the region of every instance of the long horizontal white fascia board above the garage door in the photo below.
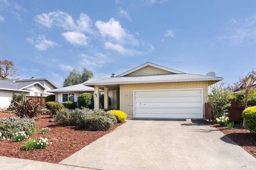
<svg viewBox="0 0 256 170">
<path fill-rule="evenodd" d="M 138 84 L 138 83 L 163 83 L 163 82 L 194 82 L 194 81 L 211 81 L 218 80 L 221 81 L 224 78 L 196 78 L 196 79 L 180 79 L 180 80 L 157 80 L 157 81 L 130 81 L 130 82 L 106 82 L 106 83 L 84 83 L 85 86 L 90 85 L 114 85 L 114 84 Z"/>
</svg>

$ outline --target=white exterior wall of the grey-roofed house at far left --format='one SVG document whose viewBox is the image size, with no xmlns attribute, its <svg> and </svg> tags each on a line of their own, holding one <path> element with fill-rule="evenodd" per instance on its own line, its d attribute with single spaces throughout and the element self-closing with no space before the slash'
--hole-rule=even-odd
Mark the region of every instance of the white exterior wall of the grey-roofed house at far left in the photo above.
<svg viewBox="0 0 256 170">
<path fill-rule="evenodd" d="M 9 90 L 0 90 L 0 108 L 6 109 L 11 104 L 12 95 L 19 95 L 21 92 L 9 91 Z M 29 95 L 29 92 L 24 92 L 26 96 Z"/>
</svg>

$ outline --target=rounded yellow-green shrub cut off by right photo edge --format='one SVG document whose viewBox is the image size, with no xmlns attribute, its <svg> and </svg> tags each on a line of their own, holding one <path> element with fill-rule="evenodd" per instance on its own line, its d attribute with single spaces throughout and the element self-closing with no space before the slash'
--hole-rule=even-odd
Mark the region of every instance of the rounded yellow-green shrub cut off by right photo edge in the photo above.
<svg viewBox="0 0 256 170">
<path fill-rule="evenodd" d="M 242 113 L 246 125 L 251 132 L 256 132 L 256 106 L 247 107 Z"/>
</svg>

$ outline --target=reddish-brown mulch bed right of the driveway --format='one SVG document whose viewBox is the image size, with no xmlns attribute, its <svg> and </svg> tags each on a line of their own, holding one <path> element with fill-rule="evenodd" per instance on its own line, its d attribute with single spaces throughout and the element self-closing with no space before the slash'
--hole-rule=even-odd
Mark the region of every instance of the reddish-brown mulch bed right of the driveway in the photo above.
<svg viewBox="0 0 256 170">
<path fill-rule="evenodd" d="M 240 125 L 234 125 L 232 129 L 219 124 L 212 125 L 256 158 L 256 133 L 250 133 L 248 129 L 242 129 Z"/>
</svg>

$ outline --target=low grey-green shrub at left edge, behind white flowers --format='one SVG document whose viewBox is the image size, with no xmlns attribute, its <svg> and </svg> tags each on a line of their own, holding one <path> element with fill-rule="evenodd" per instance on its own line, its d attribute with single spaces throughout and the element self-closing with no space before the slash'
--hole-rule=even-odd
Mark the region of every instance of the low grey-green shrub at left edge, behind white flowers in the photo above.
<svg viewBox="0 0 256 170">
<path fill-rule="evenodd" d="M 0 119 L 0 133 L 4 137 L 12 137 L 13 133 L 22 132 L 26 135 L 33 135 L 36 131 L 36 124 L 34 119 L 27 117 L 18 118 L 1 118 Z"/>
</svg>

